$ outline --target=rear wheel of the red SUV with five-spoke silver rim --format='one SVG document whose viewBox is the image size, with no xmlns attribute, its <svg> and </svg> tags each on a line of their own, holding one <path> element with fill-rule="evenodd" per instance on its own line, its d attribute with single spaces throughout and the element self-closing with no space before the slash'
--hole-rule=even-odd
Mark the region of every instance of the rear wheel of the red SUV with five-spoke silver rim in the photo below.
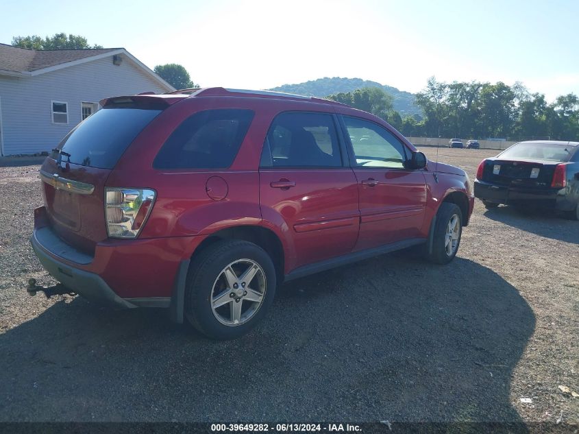
<svg viewBox="0 0 579 434">
<path fill-rule="evenodd" d="M 186 282 L 185 313 L 212 339 L 245 335 L 275 296 L 275 267 L 254 243 L 217 241 L 193 258 Z"/>
</svg>

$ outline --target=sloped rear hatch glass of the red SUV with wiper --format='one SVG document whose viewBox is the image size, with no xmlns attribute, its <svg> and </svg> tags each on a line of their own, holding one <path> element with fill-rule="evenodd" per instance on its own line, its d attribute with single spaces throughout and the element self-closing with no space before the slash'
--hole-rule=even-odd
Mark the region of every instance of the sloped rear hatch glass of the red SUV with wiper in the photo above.
<svg viewBox="0 0 579 434">
<path fill-rule="evenodd" d="M 112 169 L 123 152 L 161 110 L 103 108 L 79 123 L 62 139 L 62 161 Z M 58 152 L 51 154 L 58 159 Z"/>
</svg>

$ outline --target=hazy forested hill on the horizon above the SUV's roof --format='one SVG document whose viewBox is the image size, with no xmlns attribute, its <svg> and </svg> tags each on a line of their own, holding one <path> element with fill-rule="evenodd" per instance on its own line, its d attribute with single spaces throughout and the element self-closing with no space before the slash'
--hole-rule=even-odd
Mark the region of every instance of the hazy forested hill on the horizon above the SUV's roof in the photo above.
<svg viewBox="0 0 579 434">
<path fill-rule="evenodd" d="M 414 95 L 412 95 L 412 93 L 399 91 L 395 87 L 371 82 L 370 80 L 362 80 L 361 78 L 323 77 L 305 83 L 284 84 L 283 86 L 269 89 L 269 91 L 323 98 L 334 93 L 352 92 L 365 87 L 379 87 L 384 89 L 386 93 L 392 95 L 394 98 L 393 108 L 399 112 L 402 117 L 408 114 L 421 114 L 421 110 L 414 104 Z"/>
</svg>

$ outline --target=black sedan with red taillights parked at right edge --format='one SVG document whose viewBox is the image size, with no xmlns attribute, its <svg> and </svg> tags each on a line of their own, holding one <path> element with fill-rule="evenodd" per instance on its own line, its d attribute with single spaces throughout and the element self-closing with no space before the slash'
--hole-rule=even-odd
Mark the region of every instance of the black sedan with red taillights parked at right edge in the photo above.
<svg viewBox="0 0 579 434">
<path fill-rule="evenodd" d="M 486 208 L 533 204 L 579 220 L 579 142 L 515 143 L 480 162 L 474 194 Z"/>
</svg>

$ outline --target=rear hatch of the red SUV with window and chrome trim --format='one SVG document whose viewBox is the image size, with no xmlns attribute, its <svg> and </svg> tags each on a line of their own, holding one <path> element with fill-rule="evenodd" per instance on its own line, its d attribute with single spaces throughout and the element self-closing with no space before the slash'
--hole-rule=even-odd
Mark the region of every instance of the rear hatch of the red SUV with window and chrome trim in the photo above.
<svg viewBox="0 0 579 434">
<path fill-rule="evenodd" d="M 116 97 L 79 123 L 40 169 L 51 226 L 66 243 L 94 254 L 107 238 L 106 180 L 134 138 L 172 102 L 152 96 Z M 170 102 L 167 102 L 170 101 Z"/>
</svg>

